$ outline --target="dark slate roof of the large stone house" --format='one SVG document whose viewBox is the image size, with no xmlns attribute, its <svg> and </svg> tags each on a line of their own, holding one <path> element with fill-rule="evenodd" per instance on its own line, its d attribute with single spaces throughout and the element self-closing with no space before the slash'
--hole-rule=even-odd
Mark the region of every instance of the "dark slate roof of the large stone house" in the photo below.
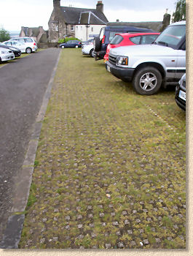
<svg viewBox="0 0 193 256">
<path fill-rule="evenodd" d="M 95 9 L 61 7 L 63 17 L 68 24 L 103 25 L 108 22 L 103 12 Z"/>
</svg>

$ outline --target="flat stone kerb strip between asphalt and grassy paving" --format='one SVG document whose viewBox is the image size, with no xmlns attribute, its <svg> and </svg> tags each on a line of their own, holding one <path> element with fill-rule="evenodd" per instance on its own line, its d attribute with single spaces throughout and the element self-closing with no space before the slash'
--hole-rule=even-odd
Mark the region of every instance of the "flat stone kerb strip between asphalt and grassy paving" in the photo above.
<svg viewBox="0 0 193 256">
<path fill-rule="evenodd" d="M 7 221 L 7 227 L 4 231 L 4 236 L 0 241 L 1 249 L 17 249 L 20 242 L 21 233 L 23 230 L 23 223 L 25 220 L 25 208 L 28 203 L 28 196 L 31 187 L 32 175 L 34 173 L 34 161 L 36 159 L 36 150 L 38 147 L 38 141 L 40 132 L 42 129 L 42 122 L 47 110 L 47 104 L 49 102 L 52 85 L 55 78 L 55 73 L 60 60 L 61 50 L 56 60 L 55 67 L 52 70 L 47 89 L 42 99 L 42 105 L 39 110 L 39 114 L 32 127 L 31 138 L 28 143 L 28 149 L 25 154 L 23 166 L 20 170 L 20 178 L 18 178 L 15 187 L 15 197 L 13 198 L 12 215 Z"/>
</svg>

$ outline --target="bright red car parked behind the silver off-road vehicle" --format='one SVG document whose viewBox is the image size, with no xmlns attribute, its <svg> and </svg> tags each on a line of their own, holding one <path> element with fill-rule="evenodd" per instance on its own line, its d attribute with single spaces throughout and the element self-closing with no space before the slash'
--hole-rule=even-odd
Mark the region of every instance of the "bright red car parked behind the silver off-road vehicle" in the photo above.
<svg viewBox="0 0 193 256">
<path fill-rule="evenodd" d="M 154 39 L 158 37 L 160 33 L 122 33 L 122 34 L 115 34 L 114 38 L 111 39 L 109 45 L 106 48 L 106 55 L 104 59 L 106 61 L 109 60 L 109 50 L 111 48 L 116 48 L 119 46 L 126 46 L 126 45 L 148 45 L 151 42 L 154 42 Z"/>
</svg>

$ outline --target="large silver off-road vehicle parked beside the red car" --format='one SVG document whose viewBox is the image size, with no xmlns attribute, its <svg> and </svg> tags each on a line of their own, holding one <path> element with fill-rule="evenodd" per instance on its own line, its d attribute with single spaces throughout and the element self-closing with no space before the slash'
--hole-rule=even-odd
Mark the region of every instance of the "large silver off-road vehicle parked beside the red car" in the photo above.
<svg viewBox="0 0 193 256">
<path fill-rule="evenodd" d="M 186 21 L 169 25 L 151 45 L 111 49 L 106 69 L 132 81 L 138 94 L 156 94 L 161 86 L 178 83 L 186 72 Z"/>
</svg>

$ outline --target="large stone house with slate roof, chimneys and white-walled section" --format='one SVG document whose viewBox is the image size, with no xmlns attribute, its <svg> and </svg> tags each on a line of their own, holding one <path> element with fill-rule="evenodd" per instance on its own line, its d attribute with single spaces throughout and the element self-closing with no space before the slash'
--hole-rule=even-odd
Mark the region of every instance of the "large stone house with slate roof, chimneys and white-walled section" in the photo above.
<svg viewBox="0 0 193 256">
<path fill-rule="evenodd" d="M 98 1 L 95 9 L 86 9 L 61 7 L 60 0 L 53 0 L 53 11 L 48 22 L 49 41 L 58 42 L 58 39 L 64 37 L 85 40 L 99 34 L 107 22 L 102 1 Z"/>
</svg>

